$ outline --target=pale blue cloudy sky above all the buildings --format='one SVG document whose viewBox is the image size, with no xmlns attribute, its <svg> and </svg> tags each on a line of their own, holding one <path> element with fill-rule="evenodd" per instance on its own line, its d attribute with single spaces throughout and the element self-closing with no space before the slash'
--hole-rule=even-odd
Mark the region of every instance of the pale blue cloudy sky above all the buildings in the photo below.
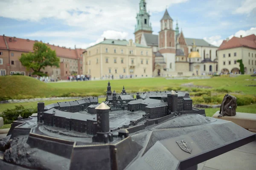
<svg viewBox="0 0 256 170">
<path fill-rule="evenodd" d="M 0 34 L 74 48 L 133 39 L 140 0 L 0 0 Z M 220 45 L 256 34 L 256 0 L 146 0 L 153 34 L 167 7 L 185 37 Z M 175 28 L 175 25 L 174 25 Z"/>
</svg>

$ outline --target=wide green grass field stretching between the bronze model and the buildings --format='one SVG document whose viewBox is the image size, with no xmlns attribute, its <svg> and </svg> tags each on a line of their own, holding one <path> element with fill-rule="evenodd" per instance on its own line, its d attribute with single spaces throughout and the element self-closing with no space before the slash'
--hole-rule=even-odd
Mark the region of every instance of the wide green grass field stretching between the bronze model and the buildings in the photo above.
<svg viewBox="0 0 256 170">
<path fill-rule="evenodd" d="M 4 76 L 0 77 L 0 100 L 3 99 L 24 99 L 53 96 L 99 96 L 105 95 L 107 80 L 84 81 L 84 82 L 60 82 L 44 83 L 27 76 Z M 147 79 L 121 79 L 111 80 L 112 91 L 116 93 L 122 91 L 122 86 L 128 93 L 137 91 L 164 91 L 167 89 L 180 87 L 183 83 L 193 83 L 199 86 L 208 86 L 213 89 L 227 89 L 232 92 L 243 92 L 244 94 L 256 95 L 256 81 L 250 75 L 238 77 L 212 77 L 211 79 L 184 79 L 167 80 L 165 78 Z M 189 91 L 191 88 L 183 87 Z M 207 89 L 205 89 L 207 91 Z"/>
</svg>

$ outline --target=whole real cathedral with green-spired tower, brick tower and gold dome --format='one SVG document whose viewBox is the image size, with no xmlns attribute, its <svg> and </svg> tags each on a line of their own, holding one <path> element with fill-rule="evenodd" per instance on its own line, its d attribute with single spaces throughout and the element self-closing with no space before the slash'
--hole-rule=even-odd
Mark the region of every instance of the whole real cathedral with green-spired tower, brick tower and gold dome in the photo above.
<svg viewBox="0 0 256 170">
<path fill-rule="evenodd" d="M 185 38 L 167 9 L 160 20 L 159 35 L 152 34 L 150 15 L 145 0 L 140 0 L 140 11 L 135 26 L 135 42 L 150 46 L 153 51 L 153 76 L 192 76 L 218 71 L 218 47 L 203 39 Z"/>
</svg>

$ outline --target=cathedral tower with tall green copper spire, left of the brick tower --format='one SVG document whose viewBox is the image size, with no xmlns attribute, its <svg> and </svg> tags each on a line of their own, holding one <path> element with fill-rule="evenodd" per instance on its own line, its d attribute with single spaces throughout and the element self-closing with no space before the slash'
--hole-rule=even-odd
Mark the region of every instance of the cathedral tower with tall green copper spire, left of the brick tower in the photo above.
<svg viewBox="0 0 256 170">
<path fill-rule="evenodd" d="M 140 43 L 141 36 L 143 33 L 152 34 L 151 23 L 149 24 L 150 15 L 147 12 L 146 8 L 147 3 L 145 0 L 140 0 L 140 11 L 137 13 L 137 23 L 135 25 L 135 42 Z"/>
</svg>

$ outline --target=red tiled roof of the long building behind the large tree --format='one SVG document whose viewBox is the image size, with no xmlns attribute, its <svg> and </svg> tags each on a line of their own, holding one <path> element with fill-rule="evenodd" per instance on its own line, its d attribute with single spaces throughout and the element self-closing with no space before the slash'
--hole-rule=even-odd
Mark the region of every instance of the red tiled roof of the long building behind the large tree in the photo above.
<svg viewBox="0 0 256 170">
<path fill-rule="evenodd" d="M 6 38 L 6 42 L 7 42 L 10 50 L 33 52 L 33 45 L 34 45 L 35 41 L 21 39 L 21 38 L 14 38 L 14 37 L 5 37 L 5 38 Z M 64 57 L 64 58 L 77 59 L 80 57 L 80 53 L 81 53 L 80 51 L 84 51 L 83 49 L 75 49 L 74 50 L 74 49 L 69 49 L 69 48 L 58 47 L 55 45 L 49 45 L 49 44 L 47 44 L 47 45 L 52 50 L 56 51 L 56 55 L 58 57 Z M 3 36 L 0 36 L 0 48 L 2 48 L 2 46 L 4 49 L 6 49 L 6 45 L 5 45 Z M 76 54 L 76 50 L 78 51 L 77 54 Z"/>
</svg>

